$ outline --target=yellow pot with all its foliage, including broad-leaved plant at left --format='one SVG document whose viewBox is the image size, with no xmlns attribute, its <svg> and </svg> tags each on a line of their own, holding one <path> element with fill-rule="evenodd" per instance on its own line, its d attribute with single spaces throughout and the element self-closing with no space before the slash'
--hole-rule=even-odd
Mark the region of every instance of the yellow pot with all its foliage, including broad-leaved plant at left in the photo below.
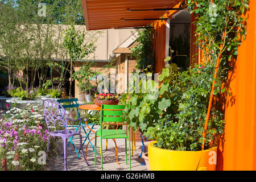
<svg viewBox="0 0 256 182">
<path fill-rule="evenodd" d="M 166 61 L 171 61 L 171 57 Z M 211 112 L 214 117 L 208 123 L 205 150 L 201 151 L 213 72 L 211 62 L 195 65 L 183 73 L 176 64 L 167 64 L 158 78 L 159 97 L 130 93 L 130 104 L 126 105 L 123 118 L 134 130 L 139 127 L 143 135 L 155 140 L 148 144 L 150 170 L 216 168 L 214 144 L 224 131 L 224 114 L 217 102 Z M 145 85 L 152 80 L 144 82 Z"/>
</svg>

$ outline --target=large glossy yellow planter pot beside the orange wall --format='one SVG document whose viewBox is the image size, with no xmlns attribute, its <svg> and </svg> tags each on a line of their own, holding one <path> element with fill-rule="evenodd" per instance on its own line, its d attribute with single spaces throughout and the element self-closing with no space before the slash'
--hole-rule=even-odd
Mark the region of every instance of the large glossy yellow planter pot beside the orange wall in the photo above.
<svg viewBox="0 0 256 182">
<path fill-rule="evenodd" d="M 204 151 L 175 151 L 148 143 L 150 171 L 215 171 L 217 147 Z"/>
</svg>

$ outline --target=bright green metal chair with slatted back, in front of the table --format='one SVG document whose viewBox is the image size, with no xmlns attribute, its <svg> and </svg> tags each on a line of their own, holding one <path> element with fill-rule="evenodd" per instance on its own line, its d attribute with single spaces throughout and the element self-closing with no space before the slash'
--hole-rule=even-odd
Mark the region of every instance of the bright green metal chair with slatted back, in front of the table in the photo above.
<svg viewBox="0 0 256 182">
<path fill-rule="evenodd" d="M 101 123 L 100 130 L 95 134 L 95 148 L 94 148 L 94 165 L 96 165 L 96 148 L 97 148 L 97 137 L 100 137 L 101 147 L 101 170 L 103 170 L 102 160 L 102 139 L 125 139 L 125 163 L 127 164 L 127 138 L 129 139 L 129 168 L 131 170 L 131 148 L 130 148 L 130 125 L 128 125 L 128 136 L 125 130 L 122 129 L 102 129 L 102 123 L 104 122 L 123 122 L 122 115 L 124 105 L 101 105 Z"/>
</svg>

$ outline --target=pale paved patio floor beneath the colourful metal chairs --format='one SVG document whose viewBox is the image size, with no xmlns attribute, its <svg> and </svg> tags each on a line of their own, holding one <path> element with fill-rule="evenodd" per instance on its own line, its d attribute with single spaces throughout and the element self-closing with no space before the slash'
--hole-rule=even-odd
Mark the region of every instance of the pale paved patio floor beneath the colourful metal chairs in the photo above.
<svg viewBox="0 0 256 182">
<path fill-rule="evenodd" d="M 94 131 L 97 131 L 99 126 L 94 127 Z M 89 131 L 89 130 L 88 130 Z M 86 132 L 88 132 L 86 131 Z M 85 134 L 82 133 L 84 137 Z M 95 134 L 90 134 L 90 138 L 93 138 Z M 84 139 L 83 139 L 84 140 Z M 117 141 L 117 148 L 118 148 L 118 162 L 116 162 L 115 157 L 115 145 L 112 139 L 108 140 L 108 150 L 106 148 L 106 140 L 102 140 L 103 146 L 103 170 L 104 171 L 128 171 L 129 170 L 129 152 L 127 150 L 127 164 L 125 164 L 125 139 L 116 139 Z M 49 159 L 49 164 L 47 170 L 50 171 L 62 171 L 64 170 L 64 159 L 63 159 L 63 148 L 62 148 L 62 139 L 57 140 L 59 148 L 57 149 L 58 155 L 52 156 Z M 88 140 L 86 140 L 84 144 L 84 152 L 86 149 L 86 144 Z M 79 149 L 79 139 L 74 140 L 75 146 Z M 144 142 L 147 144 L 148 142 Z M 92 140 L 92 144 L 94 146 L 94 139 Z M 127 142 L 128 148 L 128 142 Z M 133 156 L 131 156 L 131 170 L 132 171 L 147 171 L 146 165 L 142 166 L 143 159 L 139 157 L 141 154 L 142 143 L 136 142 L 136 151 L 133 152 Z M 80 156 L 82 158 L 82 154 L 80 151 Z M 92 147 L 88 146 L 87 151 L 87 161 L 90 166 L 86 166 L 86 163 L 79 159 L 75 150 L 73 149 L 72 144 L 69 144 L 67 150 L 67 168 L 68 171 L 100 171 L 101 170 L 101 157 L 100 157 L 100 140 L 97 138 L 97 160 L 96 166 L 94 166 L 94 152 Z"/>
</svg>

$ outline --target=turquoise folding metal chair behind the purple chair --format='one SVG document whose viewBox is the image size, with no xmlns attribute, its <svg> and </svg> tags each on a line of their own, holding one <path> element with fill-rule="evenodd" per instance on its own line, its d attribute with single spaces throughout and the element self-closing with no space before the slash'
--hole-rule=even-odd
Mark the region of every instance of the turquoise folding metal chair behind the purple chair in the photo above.
<svg viewBox="0 0 256 182">
<path fill-rule="evenodd" d="M 78 101 L 77 98 L 68 98 L 68 99 L 59 99 L 59 100 L 57 100 L 57 102 L 59 102 L 60 104 L 63 103 L 63 104 L 61 104 L 61 106 L 63 106 L 63 108 L 64 108 L 65 110 L 68 111 L 68 109 L 69 109 L 69 115 L 71 115 L 72 109 L 73 109 L 73 108 L 76 108 L 77 117 L 80 118 L 79 109 L 78 109 L 79 104 L 77 104 L 77 101 Z M 64 105 L 65 102 L 66 102 L 66 103 L 68 102 L 69 104 L 68 104 L 68 105 Z M 91 130 L 93 129 L 94 125 L 95 125 L 94 123 L 88 123 L 88 126 L 92 126 L 92 127 L 90 128 Z M 69 125 L 69 124 L 68 124 L 67 127 L 76 127 L 75 131 L 77 131 L 77 130 L 79 129 L 79 125 Z M 86 142 L 87 139 L 88 139 L 88 141 L 90 141 L 90 138 L 89 138 L 90 131 L 89 131 L 88 133 L 86 132 L 86 130 L 85 130 L 85 127 L 87 127 L 86 123 L 81 123 L 81 127 L 82 127 L 82 129 L 84 130 L 84 133 L 85 133 L 85 135 L 86 135 L 86 137 L 82 137 L 82 138 L 85 138 L 85 139 L 84 139 L 84 142 L 82 143 L 82 146 L 84 146 L 84 143 Z M 81 157 L 80 157 L 80 155 L 79 155 L 79 152 L 81 151 L 81 148 L 79 149 L 79 151 L 77 151 L 77 148 L 75 147 L 75 144 L 73 143 L 73 140 L 78 139 L 78 138 L 73 138 L 73 137 L 74 137 L 74 136 L 69 137 L 70 140 L 69 140 L 69 142 L 68 142 L 68 144 L 67 144 L 67 148 L 68 148 L 69 144 L 72 143 L 72 145 L 73 145 L 73 147 L 74 147 L 74 149 L 75 149 L 75 151 L 76 151 L 77 156 L 79 157 L 79 159 L 81 159 Z M 93 147 L 92 142 L 90 142 L 90 145 L 92 146 L 93 151 L 94 151 L 94 147 Z"/>
</svg>

